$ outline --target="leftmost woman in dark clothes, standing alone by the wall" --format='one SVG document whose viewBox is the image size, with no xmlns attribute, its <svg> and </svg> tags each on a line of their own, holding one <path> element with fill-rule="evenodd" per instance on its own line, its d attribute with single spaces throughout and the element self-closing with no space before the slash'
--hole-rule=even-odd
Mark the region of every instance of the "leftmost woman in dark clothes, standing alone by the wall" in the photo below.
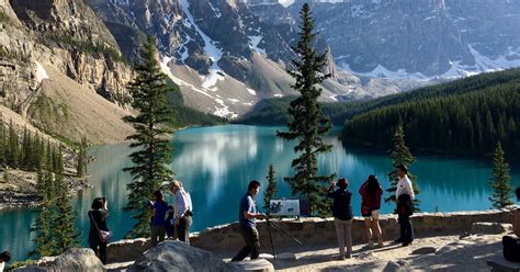
<svg viewBox="0 0 520 272">
<path fill-rule="evenodd" d="M 109 218 L 108 203 L 104 197 L 95 197 L 92 202 L 92 209 L 89 211 L 90 230 L 89 247 L 99 256 L 103 264 L 106 263 L 106 243 L 101 231 L 110 231 L 106 227 L 106 218 Z"/>
</svg>

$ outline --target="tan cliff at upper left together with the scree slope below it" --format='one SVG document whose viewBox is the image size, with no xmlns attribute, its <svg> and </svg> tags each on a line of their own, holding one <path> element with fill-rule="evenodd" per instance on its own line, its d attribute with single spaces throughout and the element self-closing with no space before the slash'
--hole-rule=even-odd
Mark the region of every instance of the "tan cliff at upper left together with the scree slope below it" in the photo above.
<svg viewBox="0 0 520 272">
<path fill-rule="evenodd" d="M 131 128 L 117 104 L 127 103 L 132 77 L 116 41 L 83 1 L 0 1 L 0 101 L 35 126 L 74 140 L 124 139 Z M 81 109 L 86 99 L 98 102 Z M 103 134 L 81 117 L 112 128 Z"/>
</svg>

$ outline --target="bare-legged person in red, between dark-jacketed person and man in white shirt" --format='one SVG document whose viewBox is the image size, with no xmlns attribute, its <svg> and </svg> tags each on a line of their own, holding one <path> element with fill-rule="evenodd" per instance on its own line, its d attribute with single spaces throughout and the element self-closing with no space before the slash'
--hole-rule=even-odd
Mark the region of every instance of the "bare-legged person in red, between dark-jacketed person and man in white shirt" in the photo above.
<svg viewBox="0 0 520 272">
<path fill-rule="evenodd" d="M 360 188 L 361 215 L 364 218 L 369 247 L 373 246 L 373 237 L 377 238 L 377 245 L 383 247 L 383 234 L 380 226 L 381 195 L 383 189 L 377 182 L 377 177 L 371 174 Z"/>
</svg>

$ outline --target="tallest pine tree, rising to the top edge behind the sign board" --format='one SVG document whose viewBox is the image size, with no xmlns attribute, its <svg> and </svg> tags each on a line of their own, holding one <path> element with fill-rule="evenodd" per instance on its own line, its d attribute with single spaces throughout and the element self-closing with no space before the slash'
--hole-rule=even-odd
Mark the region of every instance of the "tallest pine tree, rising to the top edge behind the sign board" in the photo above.
<svg viewBox="0 0 520 272">
<path fill-rule="evenodd" d="M 296 83 L 292 88 L 301 95 L 291 102 L 287 110 L 290 116 L 287 122 L 289 132 L 278 132 L 278 136 L 286 140 L 298 140 L 294 151 L 299 154 L 299 157 L 292 162 L 296 173 L 294 177 L 284 178 L 293 194 L 299 194 L 307 199 L 312 213 L 327 215 L 329 213 L 329 201 L 325 197 L 326 184 L 335 178 L 335 174 L 317 175 L 316 173 L 318 171 L 318 155 L 327 152 L 331 148 L 323 140 L 331 125 L 321 112 L 321 105 L 318 103 L 321 89 L 317 88 L 316 84 L 321 83 L 330 75 L 320 73 L 326 65 L 327 53 L 318 54 L 313 48 L 316 38 L 316 33 L 314 33 L 315 21 L 307 3 L 303 5 L 299 16 L 302 19 L 299 41 L 293 47 L 298 59 L 293 60 L 295 69 L 287 71 L 296 79 Z"/>
</svg>

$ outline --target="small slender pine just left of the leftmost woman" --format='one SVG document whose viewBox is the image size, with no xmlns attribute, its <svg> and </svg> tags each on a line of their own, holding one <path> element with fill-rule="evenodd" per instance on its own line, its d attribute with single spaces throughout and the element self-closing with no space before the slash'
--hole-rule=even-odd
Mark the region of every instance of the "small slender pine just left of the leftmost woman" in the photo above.
<svg viewBox="0 0 520 272">
<path fill-rule="evenodd" d="M 57 253 L 61 253 L 79 245 L 79 231 L 76 228 L 76 215 L 70 205 L 67 182 L 64 177 L 64 161 L 61 147 L 57 154 L 57 171 L 55 173 L 56 195 L 56 220 L 54 239 Z"/>
</svg>

